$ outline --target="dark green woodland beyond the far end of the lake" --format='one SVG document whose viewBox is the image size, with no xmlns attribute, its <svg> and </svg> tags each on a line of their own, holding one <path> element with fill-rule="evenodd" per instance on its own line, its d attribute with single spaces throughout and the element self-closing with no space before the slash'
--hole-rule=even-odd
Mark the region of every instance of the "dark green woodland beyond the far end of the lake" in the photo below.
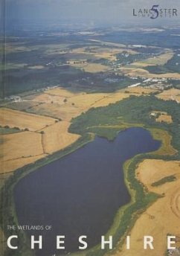
<svg viewBox="0 0 180 256">
<path fill-rule="evenodd" d="M 153 111 L 167 112 L 172 116 L 173 123 L 156 122 L 155 118 L 150 115 Z M 177 150 L 180 149 L 179 103 L 174 100 L 164 101 L 154 95 L 130 96 L 106 107 L 91 108 L 88 112 L 74 118 L 69 131 L 83 135 L 87 132 L 87 127 L 89 127 L 88 132 L 91 132 L 94 127 L 118 125 L 120 121 L 165 129 L 173 135 L 173 146 Z"/>
</svg>

